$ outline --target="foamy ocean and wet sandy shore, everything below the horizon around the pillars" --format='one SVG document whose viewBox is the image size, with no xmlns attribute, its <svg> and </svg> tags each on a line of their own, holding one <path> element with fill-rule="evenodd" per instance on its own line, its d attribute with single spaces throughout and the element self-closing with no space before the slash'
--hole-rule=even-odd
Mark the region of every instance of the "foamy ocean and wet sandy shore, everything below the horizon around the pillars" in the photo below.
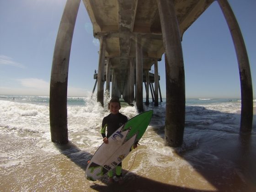
<svg viewBox="0 0 256 192">
<path fill-rule="evenodd" d="M 105 101 L 107 103 L 107 101 Z M 256 100 L 253 101 L 254 108 Z M 256 117 L 240 135 L 240 99 L 187 99 L 184 142 L 164 145 L 165 100 L 154 107 L 144 136 L 123 160 L 123 185 L 85 177 L 102 144 L 96 98 L 68 97 L 69 144 L 51 142 L 48 96 L 0 96 L 0 191 L 256 191 Z M 122 103 L 128 118 L 138 114 Z"/>
</svg>

